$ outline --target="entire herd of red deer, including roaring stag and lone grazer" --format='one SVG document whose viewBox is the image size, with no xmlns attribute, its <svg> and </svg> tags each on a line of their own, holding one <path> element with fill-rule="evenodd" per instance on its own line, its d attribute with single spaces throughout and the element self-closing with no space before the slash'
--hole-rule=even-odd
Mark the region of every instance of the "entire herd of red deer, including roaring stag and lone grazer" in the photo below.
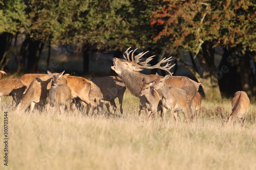
<svg viewBox="0 0 256 170">
<path fill-rule="evenodd" d="M 131 47 L 130 47 L 131 48 Z M 125 89 L 139 98 L 139 115 L 144 110 L 148 119 L 154 120 L 161 114 L 161 119 L 165 119 L 166 109 L 170 111 L 170 121 L 175 118 L 179 121 L 179 111 L 184 114 L 188 123 L 196 117 L 201 106 L 201 95 L 198 92 L 201 82 L 195 82 L 187 77 L 172 76 L 169 61 L 171 58 L 162 59 L 156 65 L 151 66 L 149 62 L 154 56 L 143 60 L 147 53 L 139 53 L 134 56 L 135 51 L 127 48 L 123 57 L 113 58 L 111 68 L 118 76 L 98 77 L 88 80 L 82 77 L 63 75 L 65 71 L 48 74 L 25 74 L 18 79 L 2 79 L 6 74 L 0 71 L 0 102 L 2 96 L 12 96 L 13 105 L 17 111 L 32 112 L 35 106 L 39 109 L 57 109 L 60 113 L 76 113 L 78 109 L 84 108 L 88 114 L 93 112 L 103 112 L 103 105 L 112 114 L 117 106 L 115 98 L 119 100 L 121 114 L 122 100 Z M 166 63 L 166 64 L 164 64 Z M 166 76 L 145 75 L 143 69 L 159 68 L 168 72 Z M 234 94 L 232 101 L 232 113 L 225 118 L 223 126 L 233 123 L 236 118 L 241 119 L 241 126 L 244 125 L 245 116 L 250 105 L 249 98 L 244 91 Z"/>
</svg>

